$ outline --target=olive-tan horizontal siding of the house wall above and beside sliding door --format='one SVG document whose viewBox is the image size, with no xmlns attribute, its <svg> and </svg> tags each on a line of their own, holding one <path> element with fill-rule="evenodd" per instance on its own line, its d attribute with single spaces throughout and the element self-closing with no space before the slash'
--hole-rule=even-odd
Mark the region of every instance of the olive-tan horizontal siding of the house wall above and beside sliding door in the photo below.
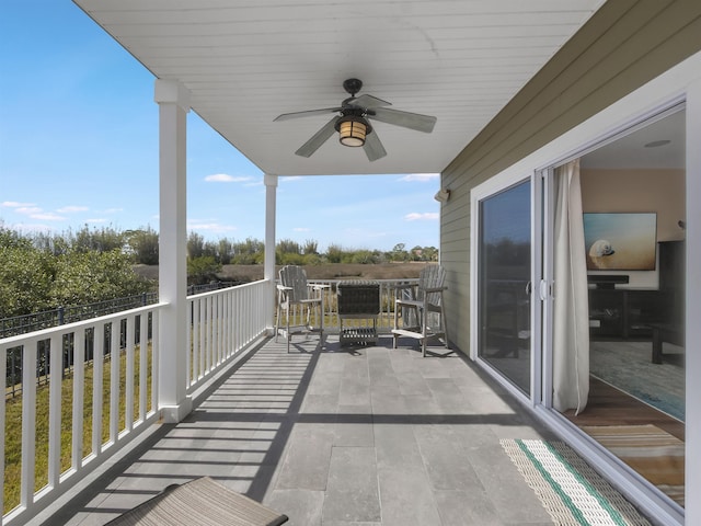
<svg viewBox="0 0 701 526">
<path fill-rule="evenodd" d="M 470 352 L 470 191 L 701 50 L 701 2 L 605 3 L 444 170 L 450 340 Z M 528 173 L 524 173 L 525 176 Z"/>
</svg>

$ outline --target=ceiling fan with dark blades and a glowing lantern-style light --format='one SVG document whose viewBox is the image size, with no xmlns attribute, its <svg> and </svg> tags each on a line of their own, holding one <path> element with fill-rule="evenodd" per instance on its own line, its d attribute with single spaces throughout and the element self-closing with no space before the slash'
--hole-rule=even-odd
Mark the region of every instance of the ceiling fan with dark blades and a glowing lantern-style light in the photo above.
<svg viewBox="0 0 701 526">
<path fill-rule="evenodd" d="M 321 127 L 307 142 L 304 142 L 295 153 L 301 157 L 311 157 L 321 145 L 323 145 L 334 132 L 338 132 L 338 139 L 342 145 L 349 147 L 363 147 L 370 161 L 376 161 L 384 156 L 387 151 L 380 142 L 380 138 L 370 125 L 370 121 L 402 126 L 430 134 L 436 124 L 436 117 L 421 115 L 418 113 L 401 112 L 390 110 L 386 106 L 392 104 L 378 99 L 377 96 L 364 94 L 356 98 L 356 93 L 363 89 L 363 81 L 358 79 L 347 79 L 343 82 L 343 89 L 350 94 L 337 107 L 324 107 L 320 110 L 309 110 L 307 112 L 284 113 L 275 117 L 274 121 L 287 121 L 290 118 L 309 117 L 325 113 L 336 113 L 337 115 Z"/>
</svg>

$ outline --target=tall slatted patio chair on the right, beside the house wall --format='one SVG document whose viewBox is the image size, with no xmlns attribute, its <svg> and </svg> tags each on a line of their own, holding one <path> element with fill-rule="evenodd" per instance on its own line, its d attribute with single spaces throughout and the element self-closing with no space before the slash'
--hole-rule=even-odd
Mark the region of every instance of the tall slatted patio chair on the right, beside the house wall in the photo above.
<svg viewBox="0 0 701 526">
<path fill-rule="evenodd" d="M 397 348 L 400 336 L 418 340 L 423 356 L 426 356 L 426 341 L 433 336 L 441 338 L 446 348 L 450 348 L 443 299 L 443 291 L 447 288 L 445 281 L 446 271 L 443 266 L 428 265 L 421 271 L 417 285 L 397 288 L 393 348 Z"/>
</svg>

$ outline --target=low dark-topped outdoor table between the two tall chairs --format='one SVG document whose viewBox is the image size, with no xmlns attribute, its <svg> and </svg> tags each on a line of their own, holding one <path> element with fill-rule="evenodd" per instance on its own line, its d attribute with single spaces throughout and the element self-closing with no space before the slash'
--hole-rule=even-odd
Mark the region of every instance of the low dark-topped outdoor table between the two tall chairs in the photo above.
<svg viewBox="0 0 701 526">
<path fill-rule="evenodd" d="M 376 343 L 377 318 L 380 316 L 380 284 L 371 281 L 344 281 L 336 286 L 341 345 Z M 347 324 L 347 320 L 371 320 L 372 325 Z"/>
</svg>

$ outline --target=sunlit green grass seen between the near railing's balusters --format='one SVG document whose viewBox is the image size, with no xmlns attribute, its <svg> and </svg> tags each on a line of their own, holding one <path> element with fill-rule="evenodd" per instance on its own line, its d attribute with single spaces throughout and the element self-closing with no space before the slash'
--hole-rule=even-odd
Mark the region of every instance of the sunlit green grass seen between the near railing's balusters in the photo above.
<svg viewBox="0 0 701 526">
<path fill-rule="evenodd" d="M 134 414 L 139 414 L 139 346 L 134 353 Z M 151 368 L 151 345 L 148 346 L 148 367 Z M 112 362 L 105 357 L 103 365 L 102 382 L 102 437 L 104 444 L 110 438 L 110 390 Z M 84 396 L 83 396 L 83 457 L 92 451 L 92 420 L 93 420 L 93 363 L 84 366 Z M 147 408 L 151 410 L 150 375 L 147 378 Z M 126 427 L 126 352 L 119 353 L 119 426 Z M 36 455 L 35 455 L 35 491 L 45 487 L 48 482 L 48 419 L 49 419 L 49 386 L 41 386 L 36 391 Z M 72 424 L 73 424 L 73 374 L 67 375 L 61 381 L 61 453 L 60 470 L 66 471 L 71 466 Z M 20 504 L 21 474 L 22 474 L 22 397 L 8 399 L 5 402 L 5 430 L 4 430 L 5 465 L 4 465 L 4 511 L 8 513 Z"/>
</svg>

